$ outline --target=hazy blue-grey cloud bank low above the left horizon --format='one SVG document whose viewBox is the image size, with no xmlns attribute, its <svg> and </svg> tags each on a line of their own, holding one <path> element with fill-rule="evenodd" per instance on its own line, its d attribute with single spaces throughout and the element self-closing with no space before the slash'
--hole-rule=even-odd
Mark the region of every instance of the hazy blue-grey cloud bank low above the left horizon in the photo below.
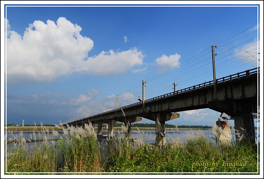
<svg viewBox="0 0 264 179">
<path fill-rule="evenodd" d="M 44 94 L 37 92 L 26 96 L 15 93 L 8 94 L 8 123 L 18 118 L 24 118 L 27 121 L 32 119 L 32 122 L 33 120 L 50 120 L 50 122 L 55 122 L 57 124 L 59 119 L 65 121 L 69 116 L 73 117 L 81 113 L 86 113 L 89 109 L 91 111 L 92 106 L 98 105 L 94 101 L 97 94 L 97 89 L 91 89 L 87 94 L 80 94 L 78 97 L 73 98 L 67 97 L 65 93 L 60 94 L 51 92 Z M 32 117 L 31 114 L 34 114 L 34 116 Z"/>
</svg>

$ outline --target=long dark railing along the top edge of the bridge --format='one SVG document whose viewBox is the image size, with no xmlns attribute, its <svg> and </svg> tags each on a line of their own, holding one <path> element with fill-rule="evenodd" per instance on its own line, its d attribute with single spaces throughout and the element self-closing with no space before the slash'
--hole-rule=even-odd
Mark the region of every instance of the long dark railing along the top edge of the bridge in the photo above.
<svg viewBox="0 0 264 179">
<path fill-rule="evenodd" d="M 216 79 L 216 84 L 227 82 L 227 81 L 231 81 L 233 79 L 239 79 L 239 78 L 245 77 L 245 76 L 248 77 L 248 76 L 250 76 L 252 74 L 257 73 L 258 71 L 259 71 L 259 67 L 258 68 L 253 68 L 253 69 L 249 69 L 249 70 L 246 70 L 244 72 L 236 73 L 236 74 L 233 74 L 233 75 L 225 76 L 223 78 Z M 177 94 L 186 93 L 186 92 L 193 91 L 193 90 L 196 90 L 196 89 L 205 88 L 205 87 L 211 86 L 213 84 L 214 84 L 213 81 L 204 82 L 204 83 L 201 83 L 199 85 L 194 85 L 194 86 L 191 86 L 191 87 L 188 87 L 188 88 L 184 88 L 184 89 L 181 89 L 181 90 L 178 90 L 178 91 L 175 91 L 175 92 L 171 92 L 171 93 L 163 94 L 161 96 L 157 96 L 157 97 L 153 97 L 153 98 L 147 99 L 147 100 L 145 100 L 145 103 L 152 102 L 152 101 L 155 101 L 155 100 L 158 100 L 158 99 L 162 99 L 162 98 L 166 98 L 166 97 L 170 97 L 170 96 L 177 95 Z M 114 109 L 114 110 L 110 110 L 110 111 L 107 111 L 107 112 L 104 112 L 104 113 L 100 113 L 100 114 L 94 115 L 94 117 L 100 116 L 100 115 L 103 115 L 103 114 L 107 114 L 107 113 L 112 113 L 112 112 L 115 112 L 115 111 L 119 111 L 121 109 L 129 108 L 129 107 L 132 107 L 132 106 L 138 106 L 138 105 L 141 105 L 141 104 L 142 104 L 142 102 L 130 104 L 130 105 L 127 105 L 127 106 L 123 106 L 123 107 L 117 108 L 116 110 Z M 80 120 L 82 120 L 82 119 L 79 119 L 77 121 L 80 121 Z"/>
</svg>

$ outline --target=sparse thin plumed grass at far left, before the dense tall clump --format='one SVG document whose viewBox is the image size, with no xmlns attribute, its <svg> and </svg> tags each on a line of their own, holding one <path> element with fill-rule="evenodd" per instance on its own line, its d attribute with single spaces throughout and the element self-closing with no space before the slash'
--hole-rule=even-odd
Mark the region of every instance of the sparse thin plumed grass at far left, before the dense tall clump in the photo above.
<svg viewBox="0 0 264 179">
<path fill-rule="evenodd" d="M 8 172 L 56 172 L 57 166 L 61 162 L 61 154 L 54 147 L 54 141 L 48 129 L 42 128 L 41 131 L 32 132 L 32 140 L 37 140 L 38 137 L 43 138 L 43 142 L 26 143 L 27 140 L 23 137 L 23 132 L 17 136 L 10 131 L 9 141 L 14 141 L 8 145 L 8 151 L 5 151 L 7 160 L 6 168 Z M 38 137 L 37 137 L 38 136 Z M 29 142 L 31 140 L 28 140 Z M 53 162 L 50 162 L 53 161 Z"/>
</svg>

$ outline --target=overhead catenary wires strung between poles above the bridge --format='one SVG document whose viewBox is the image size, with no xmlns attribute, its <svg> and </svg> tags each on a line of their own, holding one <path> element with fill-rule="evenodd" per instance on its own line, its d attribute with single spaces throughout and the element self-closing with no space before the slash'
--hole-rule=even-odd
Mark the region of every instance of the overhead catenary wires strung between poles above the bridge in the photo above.
<svg viewBox="0 0 264 179">
<path fill-rule="evenodd" d="M 255 28 L 256 26 L 254 26 L 254 27 L 252 27 L 252 28 L 250 28 L 250 29 L 247 29 L 247 30 L 245 30 L 244 32 L 247 32 L 247 31 L 249 31 L 249 30 L 251 30 L 251 29 L 253 29 L 253 28 Z M 221 43 L 223 43 L 223 42 L 226 42 L 226 41 L 228 41 L 228 40 L 230 40 L 230 39 L 232 39 L 232 38 L 234 38 L 234 37 L 236 37 L 236 36 L 238 36 L 238 35 L 240 35 L 240 34 L 242 34 L 242 33 L 244 33 L 244 32 L 241 32 L 241 33 L 239 33 L 239 34 L 237 34 L 237 35 L 234 35 L 234 36 L 232 36 L 232 37 L 230 37 L 230 38 L 228 38 L 228 39 L 226 39 L 226 40 L 223 40 L 222 42 L 219 42 L 219 43 L 216 43 L 216 45 L 218 45 L 219 46 L 219 44 L 221 44 Z M 223 47 L 223 46 L 225 46 L 225 45 L 228 45 L 228 44 L 230 44 L 230 43 L 232 43 L 232 42 L 235 42 L 235 41 L 237 41 L 237 40 L 239 40 L 239 39 L 243 39 L 243 38 L 245 38 L 246 36 L 248 36 L 248 35 L 250 35 L 250 34 L 253 34 L 253 33 L 255 33 L 256 31 L 254 31 L 254 32 L 251 32 L 251 33 L 249 33 L 249 34 L 247 34 L 247 35 L 244 35 L 244 36 L 242 36 L 242 37 L 239 37 L 239 38 L 237 38 L 237 39 L 235 39 L 235 40 L 232 40 L 231 42 L 228 42 L 228 43 L 226 43 L 226 44 L 224 44 L 224 45 L 221 45 L 221 47 Z M 256 39 L 256 37 L 254 37 L 254 38 L 250 38 L 250 39 L 248 39 L 248 40 L 246 40 L 246 41 L 244 41 L 244 42 L 242 42 L 242 43 L 240 43 L 240 44 L 238 44 L 238 45 L 235 45 L 235 46 L 233 46 L 233 47 L 231 47 L 230 49 L 233 49 L 233 48 L 236 48 L 236 47 L 238 47 L 238 46 L 240 46 L 240 45 L 243 45 L 244 43 L 247 43 L 247 42 L 250 42 L 251 40 L 253 40 L 253 39 Z M 255 44 L 256 45 L 256 44 Z M 252 45 L 252 46 L 254 46 L 254 45 Z M 252 47 L 252 46 L 250 46 L 250 47 Z M 250 47 L 247 47 L 247 48 L 250 48 Z M 247 49 L 247 48 L 244 48 L 244 49 L 242 49 L 242 50 L 245 50 L 245 49 Z M 202 51 L 202 52 L 200 52 L 200 53 L 198 53 L 198 54 L 196 54 L 195 56 L 193 56 L 193 57 L 191 57 L 191 58 L 189 58 L 188 60 L 185 60 L 185 61 L 183 61 L 183 62 L 181 62 L 181 64 L 180 64 L 180 66 L 181 67 L 183 67 L 183 68 L 181 68 L 180 70 L 177 68 L 177 67 L 179 67 L 179 65 L 177 65 L 177 66 L 174 66 L 174 67 L 172 67 L 172 68 L 170 68 L 170 69 L 168 69 L 168 70 L 166 70 L 165 72 L 163 72 L 163 73 L 160 73 L 160 74 L 158 74 L 158 75 L 155 75 L 155 76 L 153 76 L 153 77 L 151 77 L 151 78 L 149 78 L 149 79 L 146 79 L 146 81 L 153 81 L 153 82 L 155 82 L 155 86 L 149 86 L 149 88 L 146 88 L 146 91 L 149 91 L 149 94 L 148 95 L 150 95 L 150 97 L 151 97 L 151 95 L 155 95 L 155 94 L 158 94 L 158 93 L 160 93 L 160 92 L 163 92 L 163 91 L 167 91 L 168 90 L 168 88 L 166 88 L 166 89 L 163 89 L 163 90 L 161 90 L 161 89 L 159 89 L 159 88 L 161 88 L 161 84 L 162 85 L 164 85 L 164 82 L 171 82 L 172 80 L 177 80 L 177 84 L 179 85 L 179 86 L 181 86 L 181 85 L 186 85 L 186 84 L 189 84 L 189 83 L 191 83 L 191 82 L 186 82 L 186 80 L 198 80 L 198 79 L 203 79 L 203 77 L 207 77 L 207 76 L 210 76 L 210 71 L 209 72 L 203 72 L 203 73 L 198 73 L 198 74 L 196 74 L 197 73 L 197 71 L 196 70 L 198 70 L 198 69 L 200 69 L 200 68 L 202 68 L 202 67 L 204 67 L 204 66 L 207 66 L 207 65 L 210 65 L 211 63 L 210 63 L 210 61 L 208 62 L 208 63 L 203 63 L 203 65 L 202 66 L 198 66 L 197 68 L 195 68 L 195 69 L 192 69 L 192 71 L 193 71 L 193 73 L 190 73 L 189 71 L 187 71 L 187 72 L 183 72 L 183 70 L 185 70 L 185 69 L 188 69 L 188 64 L 190 64 L 190 63 L 192 63 L 192 62 L 195 62 L 195 63 L 192 63 L 191 65 L 189 65 L 189 67 L 191 66 L 196 66 L 196 65 L 198 65 L 199 63 L 202 63 L 202 62 L 206 62 L 207 60 L 210 60 L 211 58 L 205 58 L 205 59 L 203 59 L 203 60 L 199 60 L 199 61 L 197 61 L 199 58 L 201 58 L 201 57 L 203 57 L 203 56 L 205 56 L 205 55 L 207 55 L 208 53 L 210 53 L 211 51 L 207 51 L 208 49 L 210 49 L 210 47 L 209 48 L 207 48 L 207 49 L 205 49 L 204 51 Z M 240 52 L 240 51 L 242 51 L 242 50 L 239 50 L 239 51 L 237 51 L 237 52 L 235 52 L 235 53 L 238 53 L 238 52 Z M 220 60 L 222 60 L 222 59 L 224 59 L 224 58 L 227 58 L 227 57 L 229 57 L 230 55 L 233 55 L 233 54 L 235 54 L 235 53 L 232 53 L 232 54 L 229 54 L 229 55 L 226 55 L 225 57 L 221 57 L 221 58 L 218 58 L 216 61 L 220 61 Z M 200 56 L 199 56 L 200 55 Z M 198 56 L 198 57 L 197 57 Z M 195 58 L 195 59 L 193 59 L 194 57 L 197 57 L 197 58 Z M 238 56 L 236 56 L 236 57 L 238 57 Z M 234 58 L 236 58 L 236 57 L 232 57 L 231 59 L 234 59 Z M 253 57 L 252 57 L 253 58 Z M 238 60 L 237 62 L 231 62 L 231 63 L 228 63 L 228 64 L 226 64 L 227 66 L 229 66 L 229 67 L 218 67 L 217 69 L 216 69 L 216 71 L 217 71 L 217 73 L 218 74 L 220 74 L 221 73 L 221 69 L 223 69 L 223 68 L 225 68 L 225 69 L 230 69 L 232 66 L 235 66 L 236 65 L 236 68 L 238 68 L 239 66 L 243 66 L 243 65 L 245 65 L 245 64 L 247 64 L 247 63 L 250 63 L 250 62 L 247 62 L 247 63 L 245 63 L 245 64 L 243 64 L 245 61 L 247 61 L 247 60 L 250 60 L 250 59 L 252 59 L 252 58 L 246 58 L 246 60 L 244 60 L 244 61 L 242 61 L 242 60 Z M 193 59 L 193 60 L 191 60 L 191 59 Z M 229 59 L 230 60 L 230 59 Z M 219 63 L 219 65 L 222 65 L 224 62 L 220 62 Z M 226 63 L 226 61 L 225 61 L 225 63 Z M 241 63 L 241 65 L 238 65 L 239 63 Z M 175 69 L 176 68 L 176 69 Z M 175 74 L 179 74 L 179 73 L 181 73 L 180 75 L 178 75 L 177 77 L 174 77 L 174 78 L 171 78 L 171 79 L 168 79 L 168 80 L 166 80 L 166 81 L 162 81 L 163 79 L 161 79 L 161 78 L 168 78 L 168 77 L 170 77 L 170 76 L 173 76 L 173 75 L 175 75 Z M 183 77 L 184 77 L 184 75 L 185 75 L 185 77 L 186 77 L 186 74 L 187 73 L 190 73 L 188 76 L 191 76 L 191 74 L 196 74 L 195 76 L 192 76 L 191 78 L 188 78 L 188 79 L 185 79 L 184 81 L 179 81 L 179 79 L 183 79 Z M 158 79 L 158 80 L 157 80 Z M 162 83 L 157 83 L 157 82 L 160 82 L 160 81 L 162 81 Z M 185 83 L 184 83 L 185 82 Z M 192 82 L 194 82 L 194 81 L 192 81 Z M 140 96 L 140 94 L 142 93 L 142 89 L 141 89 L 141 82 L 140 83 L 138 83 L 137 85 L 134 85 L 132 88 L 130 88 L 130 89 L 128 89 L 127 91 L 125 91 L 125 92 L 129 92 L 129 93 L 131 93 L 131 94 L 134 94 L 134 96 Z M 156 90 L 155 90 L 156 89 Z M 124 92 L 123 92 L 124 93 Z M 122 93 L 122 94 L 123 94 Z M 132 101 L 134 101 L 134 99 L 129 99 L 129 96 L 125 96 L 125 95 L 122 95 L 122 94 L 118 94 L 118 95 L 120 95 L 119 97 L 119 100 L 121 100 L 122 98 L 122 100 L 127 100 L 127 102 L 132 102 Z M 109 99 L 107 99 L 107 100 L 105 100 L 104 101 L 104 104 L 105 104 L 105 106 L 107 106 L 108 104 L 109 105 L 113 105 L 113 103 L 115 103 L 115 101 L 113 101 L 113 100 L 115 100 L 115 95 L 113 95 L 111 98 L 109 97 Z M 133 102 L 132 102 L 133 103 Z M 123 103 L 122 103 L 123 104 Z M 125 104 L 125 103 L 124 103 Z M 95 109 L 97 109 L 99 107 L 99 105 L 96 105 L 96 106 L 94 106 L 94 110 Z"/>
</svg>

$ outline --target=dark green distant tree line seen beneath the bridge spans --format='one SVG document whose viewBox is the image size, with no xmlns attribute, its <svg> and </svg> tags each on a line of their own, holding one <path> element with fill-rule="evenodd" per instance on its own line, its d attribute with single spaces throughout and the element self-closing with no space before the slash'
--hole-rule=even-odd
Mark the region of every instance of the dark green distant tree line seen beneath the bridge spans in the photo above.
<svg viewBox="0 0 264 179">
<path fill-rule="evenodd" d="M 123 123 L 117 123 L 117 124 L 114 124 L 114 127 L 121 127 Z M 143 124 L 143 123 L 133 123 L 132 124 L 132 127 L 138 127 L 138 128 L 155 128 L 156 127 L 156 124 Z M 175 125 L 172 125 L 172 124 L 165 124 L 165 128 L 175 128 L 176 126 Z M 178 125 L 177 126 L 178 128 L 203 128 L 203 129 L 210 129 L 212 128 L 211 126 L 208 126 L 208 125 Z"/>
</svg>

